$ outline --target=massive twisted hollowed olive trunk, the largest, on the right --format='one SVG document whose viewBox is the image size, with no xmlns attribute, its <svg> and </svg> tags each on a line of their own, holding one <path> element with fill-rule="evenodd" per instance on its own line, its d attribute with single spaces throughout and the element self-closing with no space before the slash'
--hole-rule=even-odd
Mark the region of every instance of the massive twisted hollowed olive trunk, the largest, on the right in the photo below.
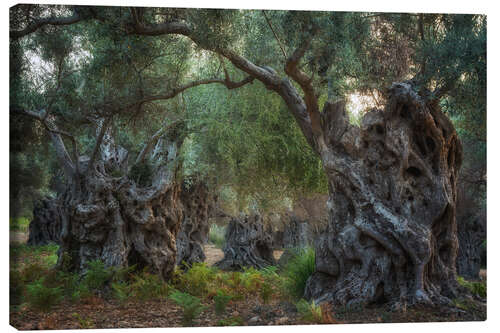
<svg viewBox="0 0 500 333">
<path fill-rule="evenodd" d="M 329 223 L 305 296 L 347 306 L 450 303 L 462 149 L 438 101 L 399 83 L 360 128 L 343 103 L 327 103 L 321 118 Z"/>
</svg>

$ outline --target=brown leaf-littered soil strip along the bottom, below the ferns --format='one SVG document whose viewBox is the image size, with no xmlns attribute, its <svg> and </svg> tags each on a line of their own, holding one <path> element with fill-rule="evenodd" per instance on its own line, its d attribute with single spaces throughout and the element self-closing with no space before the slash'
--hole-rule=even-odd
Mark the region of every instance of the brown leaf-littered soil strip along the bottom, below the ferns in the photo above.
<svg viewBox="0 0 500 333">
<path fill-rule="evenodd" d="M 263 326 L 304 325 L 305 321 L 289 302 L 271 301 L 262 304 L 258 299 L 246 299 L 228 304 L 226 313 L 216 315 L 213 302 L 190 326 Z M 454 309 L 412 307 L 391 312 L 384 307 L 345 311 L 333 309 L 322 323 L 398 323 L 486 320 L 485 309 L 469 308 L 467 312 Z M 221 322 L 224 321 L 224 322 Z M 321 323 L 321 322 L 320 322 Z M 11 312 L 10 324 L 20 330 L 79 329 L 79 328 L 137 328 L 180 327 L 182 309 L 170 300 L 132 301 L 120 304 L 116 300 L 94 297 L 86 303 L 61 303 L 51 312 L 34 312 L 29 308 Z"/>
</svg>

